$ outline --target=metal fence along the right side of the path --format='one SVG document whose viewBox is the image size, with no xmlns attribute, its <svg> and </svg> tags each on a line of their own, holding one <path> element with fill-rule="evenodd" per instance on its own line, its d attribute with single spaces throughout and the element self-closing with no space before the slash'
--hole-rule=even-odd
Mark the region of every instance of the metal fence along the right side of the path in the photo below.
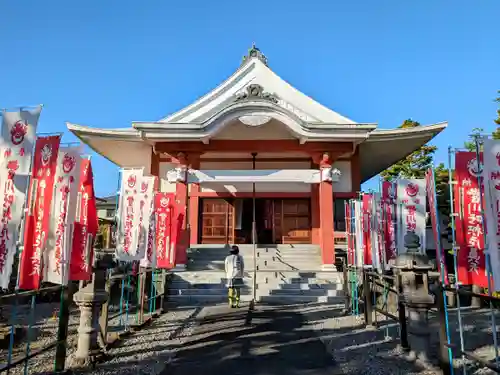
<svg viewBox="0 0 500 375">
<path fill-rule="evenodd" d="M 411 350 L 411 336 L 421 332 L 410 328 L 410 307 L 401 274 L 381 274 L 351 266 L 344 267 L 343 272 L 346 310 L 363 316 L 366 326 L 387 326 L 386 322 L 378 322 L 379 316 L 397 323 L 401 348 Z M 439 279 L 424 278 L 423 284 L 434 296 L 427 321 L 430 359 L 437 361 L 445 375 L 469 374 L 481 368 L 500 373 L 495 330 L 500 298 L 474 293 L 466 286 L 445 286 Z M 472 299 L 481 301 L 482 306 L 474 307 Z M 475 353 L 485 352 L 486 347 L 487 353 Z"/>
</svg>

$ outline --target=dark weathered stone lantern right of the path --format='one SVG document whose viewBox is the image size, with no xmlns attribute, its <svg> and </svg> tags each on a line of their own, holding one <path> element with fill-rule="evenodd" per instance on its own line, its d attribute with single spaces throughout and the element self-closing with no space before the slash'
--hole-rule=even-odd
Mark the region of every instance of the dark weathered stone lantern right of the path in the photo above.
<svg viewBox="0 0 500 375">
<path fill-rule="evenodd" d="M 403 303 L 408 311 L 410 359 L 427 360 L 430 347 L 429 310 L 434 296 L 429 294 L 428 273 L 433 266 L 427 255 L 420 252 L 420 238 L 415 232 L 404 237 L 406 252 L 397 256 L 394 274 L 401 275 Z"/>
</svg>

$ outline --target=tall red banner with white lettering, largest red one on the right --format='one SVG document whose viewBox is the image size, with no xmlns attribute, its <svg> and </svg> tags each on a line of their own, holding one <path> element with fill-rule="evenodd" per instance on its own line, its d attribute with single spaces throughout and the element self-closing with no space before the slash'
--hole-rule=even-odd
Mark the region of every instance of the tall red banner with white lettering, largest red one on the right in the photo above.
<svg viewBox="0 0 500 375">
<path fill-rule="evenodd" d="M 482 154 L 480 155 L 482 158 Z M 458 251 L 458 281 L 464 285 L 488 287 L 481 215 L 481 190 L 478 176 L 482 170 L 475 152 L 455 155 L 455 221 Z M 482 177 L 481 177 L 482 178 Z"/>
</svg>

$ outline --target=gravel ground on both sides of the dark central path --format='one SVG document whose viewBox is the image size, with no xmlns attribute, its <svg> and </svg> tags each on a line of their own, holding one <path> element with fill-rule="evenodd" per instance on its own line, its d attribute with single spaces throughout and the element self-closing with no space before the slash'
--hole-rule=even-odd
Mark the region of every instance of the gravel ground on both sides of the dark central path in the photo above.
<svg viewBox="0 0 500 375">
<path fill-rule="evenodd" d="M 36 339 L 31 344 L 32 350 L 40 349 L 53 342 L 57 333 L 57 319 L 53 319 L 54 311 L 57 312 L 58 303 L 39 304 L 36 308 L 37 323 L 33 326 L 33 335 Z M 88 373 L 92 374 L 160 374 L 166 365 L 175 358 L 176 348 L 191 335 L 195 317 L 200 313 L 200 308 L 172 309 L 155 320 L 153 324 L 135 333 L 124 340 L 121 346 L 110 350 L 111 360 L 98 365 L 97 369 Z M 111 313 L 117 308 L 111 309 Z M 410 361 L 407 354 L 398 346 L 398 325 L 388 322 L 383 316 L 377 314 L 379 329 L 364 328 L 362 316 L 342 316 L 341 306 L 328 305 L 301 305 L 296 307 L 308 322 L 308 329 L 321 337 L 322 342 L 338 365 L 339 372 L 335 374 L 440 374 L 436 369 L 436 353 L 438 348 L 438 323 L 431 313 L 431 343 L 429 345 L 429 361 Z M 495 358 L 491 315 L 488 309 L 462 310 L 464 327 L 464 341 L 466 350 L 476 356 L 493 362 Z M 500 314 L 499 314 L 500 315 Z M 28 321 L 29 308 L 18 309 L 18 317 L 22 322 Z M 78 327 L 79 312 L 73 310 L 69 324 L 69 352 L 75 350 L 76 330 Z M 122 318 L 124 319 L 124 318 Z M 451 342 L 460 345 L 458 331 L 458 314 L 450 310 Z M 110 331 L 124 329 L 124 322 L 120 326 L 119 317 L 110 321 Z M 135 315 L 130 314 L 128 324 L 135 323 Z M 500 319 L 497 319 L 500 326 Z M 498 331 L 498 328 L 497 328 Z M 24 354 L 25 346 L 16 348 L 16 354 Z M 50 350 L 29 361 L 30 374 L 52 373 L 55 350 Z M 7 358 L 7 352 L 0 350 L 2 362 Z M 462 365 L 466 364 L 466 374 L 490 375 L 495 372 L 474 365 L 471 361 L 463 361 L 455 357 L 454 365 L 457 374 L 463 374 Z M 22 374 L 24 366 L 17 366 L 11 374 Z"/>
</svg>

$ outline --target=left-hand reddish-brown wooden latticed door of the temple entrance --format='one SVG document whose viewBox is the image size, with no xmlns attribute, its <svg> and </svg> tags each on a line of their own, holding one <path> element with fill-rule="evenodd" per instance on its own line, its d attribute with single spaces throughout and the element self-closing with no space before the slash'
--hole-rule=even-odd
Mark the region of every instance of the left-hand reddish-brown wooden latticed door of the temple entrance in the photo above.
<svg viewBox="0 0 500 375">
<path fill-rule="evenodd" d="M 234 243 L 234 206 L 225 199 L 203 199 L 201 243 Z"/>
</svg>

